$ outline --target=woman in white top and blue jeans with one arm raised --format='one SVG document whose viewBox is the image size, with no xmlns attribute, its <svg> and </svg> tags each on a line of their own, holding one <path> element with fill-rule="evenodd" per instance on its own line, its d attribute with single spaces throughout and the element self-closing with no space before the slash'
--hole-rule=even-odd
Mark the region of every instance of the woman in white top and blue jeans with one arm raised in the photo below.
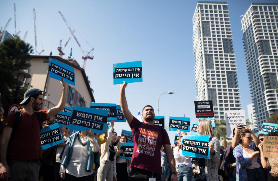
<svg viewBox="0 0 278 181">
<path fill-rule="evenodd" d="M 182 155 L 182 133 L 179 138 L 178 146 L 174 148 L 174 158 L 176 160 L 176 171 L 178 172 L 178 181 L 191 181 L 192 163 L 190 157 Z"/>
</svg>

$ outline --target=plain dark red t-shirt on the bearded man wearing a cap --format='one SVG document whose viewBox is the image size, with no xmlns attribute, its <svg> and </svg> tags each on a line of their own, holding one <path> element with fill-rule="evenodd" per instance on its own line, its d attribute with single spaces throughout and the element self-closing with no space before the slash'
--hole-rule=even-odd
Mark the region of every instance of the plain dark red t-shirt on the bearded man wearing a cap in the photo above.
<svg viewBox="0 0 278 181">
<path fill-rule="evenodd" d="M 7 150 L 7 161 L 29 160 L 41 158 L 41 136 L 40 124 L 35 113 L 29 115 L 20 109 L 22 120 L 19 123 L 14 136 L 10 139 Z M 46 120 L 48 110 L 40 110 L 41 122 Z M 14 127 L 15 112 L 10 113 L 6 119 L 5 126 Z"/>
</svg>

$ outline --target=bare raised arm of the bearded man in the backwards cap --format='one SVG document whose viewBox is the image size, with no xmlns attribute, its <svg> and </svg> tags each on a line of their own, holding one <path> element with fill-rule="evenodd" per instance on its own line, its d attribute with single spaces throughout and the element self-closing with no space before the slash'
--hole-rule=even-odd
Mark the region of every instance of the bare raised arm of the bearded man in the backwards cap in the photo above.
<svg viewBox="0 0 278 181">
<path fill-rule="evenodd" d="M 66 104 L 66 100 L 67 100 L 67 83 L 65 82 L 64 78 L 62 78 L 62 81 L 60 81 L 60 83 L 63 86 L 63 92 L 62 92 L 61 99 L 57 106 L 55 106 L 47 111 L 47 115 L 46 115 L 47 118 L 50 118 L 51 116 L 56 115 L 58 112 L 63 111 L 63 109 L 65 108 L 65 104 Z"/>
</svg>

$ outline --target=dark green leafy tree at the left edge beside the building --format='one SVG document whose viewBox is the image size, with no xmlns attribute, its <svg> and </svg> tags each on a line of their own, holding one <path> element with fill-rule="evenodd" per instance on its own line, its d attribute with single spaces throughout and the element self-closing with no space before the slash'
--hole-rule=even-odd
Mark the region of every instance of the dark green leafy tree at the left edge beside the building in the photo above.
<svg viewBox="0 0 278 181">
<path fill-rule="evenodd" d="M 0 93 L 5 115 L 13 103 L 16 89 L 17 77 L 12 75 L 13 71 L 24 70 L 30 67 L 30 54 L 33 53 L 32 46 L 25 43 L 19 37 L 7 38 L 0 44 Z M 23 99 L 26 88 L 19 91 L 19 100 Z"/>
</svg>

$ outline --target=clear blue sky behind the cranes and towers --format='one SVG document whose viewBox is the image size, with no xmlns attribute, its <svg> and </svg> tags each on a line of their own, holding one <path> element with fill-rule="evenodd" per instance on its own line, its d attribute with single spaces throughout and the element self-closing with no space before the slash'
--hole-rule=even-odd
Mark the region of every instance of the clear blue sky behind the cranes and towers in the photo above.
<svg viewBox="0 0 278 181">
<path fill-rule="evenodd" d="M 251 2 L 230 0 L 230 13 L 234 53 L 237 62 L 237 77 L 240 88 L 242 109 L 247 116 L 247 105 L 251 103 L 248 76 L 242 43 L 241 17 Z M 113 64 L 129 61 L 142 61 L 143 82 L 131 83 L 126 88 L 129 110 L 136 116 L 137 111 L 150 104 L 157 110 L 157 98 L 162 92 L 175 92 L 160 96 L 159 115 L 190 117 L 196 121 L 194 100 L 196 85 L 194 79 L 193 27 L 192 17 L 197 1 L 1 1 L 0 26 L 5 26 L 12 18 L 7 30 L 14 33 L 14 4 L 17 11 L 17 31 L 33 47 L 34 19 L 36 9 L 37 51 L 42 55 L 58 56 L 57 47 L 63 39 L 65 44 L 70 35 L 69 29 L 58 11 L 61 11 L 79 40 L 82 48 L 95 49 L 94 59 L 87 60 L 86 74 L 94 89 L 96 102 L 119 104 L 119 85 L 113 85 Z M 73 38 L 65 48 L 69 56 L 82 66 L 83 56 Z M 34 48 L 35 49 L 35 48 Z M 116 123 L 116 131 L 130 130 L 127 123 Z M 173 143 L 175 132 L 168 131 Z"/>
</svg>

